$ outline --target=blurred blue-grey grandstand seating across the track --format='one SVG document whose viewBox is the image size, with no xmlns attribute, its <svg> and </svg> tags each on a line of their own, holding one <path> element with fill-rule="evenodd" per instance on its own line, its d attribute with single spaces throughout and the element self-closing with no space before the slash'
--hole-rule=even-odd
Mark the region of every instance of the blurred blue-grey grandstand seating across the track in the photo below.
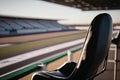
<svg viewBox="0 0 120 80">
<path fill-rule="evenodd" d="M 57 20 L 0 17 L 0 37 L 69 30 Z"/>
</svg>

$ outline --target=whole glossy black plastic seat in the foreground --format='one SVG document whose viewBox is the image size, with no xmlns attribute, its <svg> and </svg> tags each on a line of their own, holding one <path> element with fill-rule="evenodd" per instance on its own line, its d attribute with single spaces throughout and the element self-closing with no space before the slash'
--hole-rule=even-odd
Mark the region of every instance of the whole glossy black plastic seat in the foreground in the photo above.
<svg viewBox="0 0 120 80">
<path fill-rule="evenodd" d="M 32 80 L 88 80 L 96 74 L 99 66 L 107 57 L 111 34 L 111 16 L 107 13 L 99 14 L 93 19 L 88 30 L 81 53 L 84 58 L 82 55 L 77 64 L 74 62 L 66 63 L 54 71 L 36 72 Z"/>
</svg>

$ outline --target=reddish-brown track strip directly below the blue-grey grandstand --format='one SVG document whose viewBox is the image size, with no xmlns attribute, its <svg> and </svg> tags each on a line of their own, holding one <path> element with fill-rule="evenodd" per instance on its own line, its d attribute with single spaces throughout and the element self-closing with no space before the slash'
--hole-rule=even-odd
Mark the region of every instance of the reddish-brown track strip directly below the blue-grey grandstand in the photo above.
<svg viewBox="0 0 120 80">
<path fill-rule="evenodd" d="M 86 32 L 86 31 L 77 30 L 77 31 L 51 32 L 51 33 L 32 34 L 32 35 L 13 36 L 13 37 L 2 37 L 0 38 L 0 44 L 15 44 L 15 43 L 34 41 L 34 40 L 43 40 L 48 38 L 78 34 L 82 32 Z"/>
</svg>

